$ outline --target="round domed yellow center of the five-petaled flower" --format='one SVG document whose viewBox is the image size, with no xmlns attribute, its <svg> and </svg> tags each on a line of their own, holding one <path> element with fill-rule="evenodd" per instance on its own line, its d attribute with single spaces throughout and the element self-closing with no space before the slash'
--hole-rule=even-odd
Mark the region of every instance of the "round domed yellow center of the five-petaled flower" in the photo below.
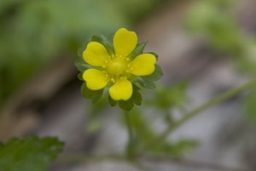
<svg viewBox="0 0 256 171">
<path fill-rule="evenodd" d="M 108 72 L 112 75 L 120 75 L 127 68 L 126 62 L 123 59 L 113 59 L 108 63 Z"/>
</svg>

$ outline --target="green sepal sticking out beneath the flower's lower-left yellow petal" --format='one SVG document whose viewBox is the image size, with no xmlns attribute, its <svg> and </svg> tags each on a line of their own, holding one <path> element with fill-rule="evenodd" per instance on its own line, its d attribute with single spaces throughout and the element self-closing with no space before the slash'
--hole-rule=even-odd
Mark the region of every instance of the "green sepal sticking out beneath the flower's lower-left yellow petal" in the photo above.
<svg viewBox="0 0 256 171">
<path fill-rule="evenodd" d="M 81 87 L 81 92 L 84 98 L 91 99 L 93 103 L 96 103 L 102 97 L 103 88 L 99 90 L 90 90 L 89 88 L 87 88 L 86 83 L 83 83 Z"/>
</svg>

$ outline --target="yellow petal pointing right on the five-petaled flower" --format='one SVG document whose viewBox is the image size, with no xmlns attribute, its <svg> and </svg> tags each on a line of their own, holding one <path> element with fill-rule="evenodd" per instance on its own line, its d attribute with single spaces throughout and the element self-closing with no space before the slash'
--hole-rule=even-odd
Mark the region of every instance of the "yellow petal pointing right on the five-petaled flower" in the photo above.
<svg viewBox="0 0 256 171">
<path fill-rule="evenodd" d="M 130 73 L 136 76 L 148 76 L 154 72 L 155 61 L 153 54 L 140 54 L 131 61 Z"/>
</svg>

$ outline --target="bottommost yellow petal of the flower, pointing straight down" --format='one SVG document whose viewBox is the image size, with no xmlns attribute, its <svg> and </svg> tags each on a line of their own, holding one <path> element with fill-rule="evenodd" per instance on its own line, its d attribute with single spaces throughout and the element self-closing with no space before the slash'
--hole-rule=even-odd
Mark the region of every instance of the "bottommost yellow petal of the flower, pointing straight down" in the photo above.
<svg viewBox="0 0 256 171">
<path fill-rule="evenodd" d="M 119 79 L 109 88 L 109 94 L 113 100 L 129 100 L 132 94 L 132 84 L 126 78 Z"/>
</svg>

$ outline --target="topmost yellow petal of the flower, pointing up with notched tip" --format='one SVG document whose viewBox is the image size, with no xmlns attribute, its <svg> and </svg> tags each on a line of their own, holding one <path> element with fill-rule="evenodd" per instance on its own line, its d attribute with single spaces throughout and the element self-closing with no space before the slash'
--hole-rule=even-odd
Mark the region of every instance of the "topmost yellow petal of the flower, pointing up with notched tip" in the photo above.
<svg viewBox="0 0 256 171">
<path fill-rule="evenodd" d="M 113 37 L 113 48 L 115 54 L 128 56 L 137 46 L 137 35 L 134 31 L 120 28 Z"/>
</svg>

